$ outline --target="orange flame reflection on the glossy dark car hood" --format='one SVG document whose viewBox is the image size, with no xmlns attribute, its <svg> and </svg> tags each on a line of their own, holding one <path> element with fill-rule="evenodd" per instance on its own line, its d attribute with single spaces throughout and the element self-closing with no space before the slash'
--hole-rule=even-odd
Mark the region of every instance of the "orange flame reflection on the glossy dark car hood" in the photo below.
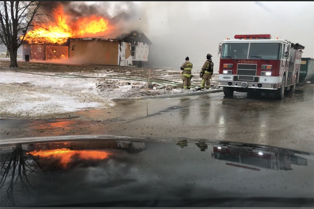
<svg viewBox="0 0 314 209">
<path fill-rule="evenodd" d="M 38 150 L 30 152 L 30 154 L 41 158 L 58 159 L 63 168 L 67 168 L 68 164 L 73 162 L 74 158 L 81 160 L 103 160 L 111 155 L 111 153 L 103 150 L 70 150 L 66 148 Z"/>
</svg>

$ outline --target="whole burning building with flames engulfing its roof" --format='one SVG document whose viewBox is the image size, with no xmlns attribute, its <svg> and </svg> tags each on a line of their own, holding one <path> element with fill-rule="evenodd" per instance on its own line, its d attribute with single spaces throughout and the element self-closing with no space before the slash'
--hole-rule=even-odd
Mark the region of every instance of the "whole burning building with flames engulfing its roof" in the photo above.
<svg viewBox="0 0 314 209">
<path fill-rule="evenodd" d="M 30 30 L 25 36 L 23 56 L 28 60 L 73 60 L 90 65 L 149 65 L 152 42 L 139 30 L 118 28 L 125 13 L 106 20 L 95 15 L 69 17 L 59 9 L 56 23 Z M 121 27 L 121 26 L 120 26 Z M 120 31 L 120 33 L 119 33 Z"/>
</svg>

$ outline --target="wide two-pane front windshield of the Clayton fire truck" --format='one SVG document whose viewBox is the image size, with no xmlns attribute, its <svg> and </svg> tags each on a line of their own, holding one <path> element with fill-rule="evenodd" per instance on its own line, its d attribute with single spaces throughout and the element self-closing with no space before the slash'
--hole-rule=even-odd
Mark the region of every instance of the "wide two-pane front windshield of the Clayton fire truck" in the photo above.
<svg viewBox="0 0 314 209">
<path fill-rule="evenodd" d="M 280 43 L 225 43 L 222 46 L 221 59 L 281 59 Z"/>
</svg>

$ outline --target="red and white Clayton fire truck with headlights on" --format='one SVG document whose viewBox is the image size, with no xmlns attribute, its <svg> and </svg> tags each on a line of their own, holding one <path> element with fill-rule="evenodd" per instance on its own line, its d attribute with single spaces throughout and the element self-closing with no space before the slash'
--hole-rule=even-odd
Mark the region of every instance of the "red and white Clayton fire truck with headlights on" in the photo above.
<svg viewBox="0 0 314 209">
<path fill-rule="evenodd" d="M 235 35 L 219 43 L 217 86 L 225 96 L 234 91 L 251 94 L 273 91 L 283 99 L 285 91 L 295 91 L 300 75 L 304 46 L 270 34 Z"/>
</svg>

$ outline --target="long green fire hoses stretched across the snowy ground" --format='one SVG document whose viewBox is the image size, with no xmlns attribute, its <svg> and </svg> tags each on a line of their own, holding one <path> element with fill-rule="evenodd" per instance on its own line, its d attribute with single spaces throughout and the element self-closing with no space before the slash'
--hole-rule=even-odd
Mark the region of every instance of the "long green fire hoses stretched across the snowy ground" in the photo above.
<svg viewBox="0 0 314 209">
<path fill-rule="evenodd" d="M 147 79 L 140 79 L 140 78 L 133 78 L 133 77 L 129 77 L 129 76 L 121 76 L 121 75 L 108 75 L 108 76 L 82 76 L 82 75 L 73 75 L 73 74 L 65 74 L 65 73 L 55 73 L 55 74 L 40 74 L 40 73 L 30 73 L 30 72 L 22 72 L 22 71 L 15 71 L 15 72 L 19 72 L 19 73 L 27 73 L 27 74 L 32 74 L 32 75 L 39 75 L 39 76 L 56 76 L 56 77 L 63 77 L 63 78 L 109 78 L 109 79 L 120 79 L 120 80 L 129 80 L 129 81 L 144 81 L 147 82 Z M 121 78 L 124 77 L 124 78 Z M 139 76 L 139 77 L 144 77 L 144 76 Z M 155 80 L 152 80 L 155 79 Z M 160 81 L 158 81 L 160 80 Z M 160 84 L 170 84 L 170 85 L 174 85 L 177 86 L 179 84 L 179 82 L 176 81 L 169 81 L 169 80 L 164 80 L 164 79 L 156 79 L 156 78 L 150 78 L 149 81 L 150 82 L 154 82 L 154 83 L 160 83 Z M 191 87 L 197 87 L 195 85 L 191 85 Z"/>
</svg>

